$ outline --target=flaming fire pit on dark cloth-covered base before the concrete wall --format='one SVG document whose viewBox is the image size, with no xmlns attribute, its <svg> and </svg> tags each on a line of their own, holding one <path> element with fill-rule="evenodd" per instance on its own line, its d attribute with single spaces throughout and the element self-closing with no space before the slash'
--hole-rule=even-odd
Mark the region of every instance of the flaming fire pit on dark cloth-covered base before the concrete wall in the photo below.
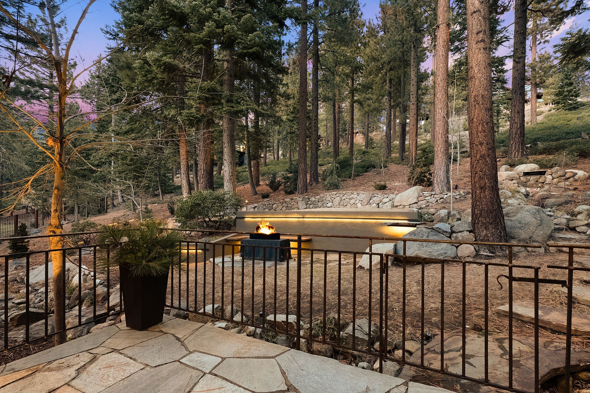
<svg viewBox="0 0 590 393">
<path fill-rule="evenodd" d="M 263 220 L 256 226 L 256 232 L 250 234 L 250 239 L 241 240 L 240 255 L 243 260 L 283 262 L 291 257 L 290 245 L 289 239 L 281 239 L 274 226 Z"/>
</svg>

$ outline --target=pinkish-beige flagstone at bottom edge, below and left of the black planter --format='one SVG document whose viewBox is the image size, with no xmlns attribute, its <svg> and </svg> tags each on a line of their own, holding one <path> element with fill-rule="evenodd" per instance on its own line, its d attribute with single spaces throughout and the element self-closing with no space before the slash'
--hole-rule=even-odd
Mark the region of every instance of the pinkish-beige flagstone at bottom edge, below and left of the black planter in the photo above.
<svg viewBox="0 0 590 393">
<path fill-rule="evenodd" d="M 84 393 L 98 393 L 139 371 L 144 366 L 116 352 L 102 355 L 70 382 Z"/>
</svg>

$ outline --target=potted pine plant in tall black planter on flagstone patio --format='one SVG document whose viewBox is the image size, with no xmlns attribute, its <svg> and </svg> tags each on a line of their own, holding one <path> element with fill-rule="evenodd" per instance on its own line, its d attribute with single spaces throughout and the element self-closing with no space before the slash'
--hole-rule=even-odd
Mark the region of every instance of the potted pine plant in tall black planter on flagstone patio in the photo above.
<svg viewBox="0 0 590 393">
<path fill-rule="evenodd" d="M 127 327 L 145 330 L 162 322 L 168 273 L 171 267 L 180 267 L 181 240 L 178 232 L 160 229 L 157 220 L 101 227 L 97 237 L 104 250 L 100 265 L 119 268 Z"/>
</svg>

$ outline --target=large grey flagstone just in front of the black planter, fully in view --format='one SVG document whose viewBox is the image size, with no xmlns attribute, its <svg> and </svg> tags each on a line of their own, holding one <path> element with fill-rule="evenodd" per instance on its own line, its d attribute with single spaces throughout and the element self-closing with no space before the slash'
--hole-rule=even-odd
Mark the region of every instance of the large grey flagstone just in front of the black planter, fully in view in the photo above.
<svg viewBox="0 0 590 393">
<path fill-rule="evenodd" d="M 188 354 L 181 342 L 171 334 L 161 335 L 129 346 L 121 352 L 123 355 L 152 367 L 177 361 Z"/>
</svg>

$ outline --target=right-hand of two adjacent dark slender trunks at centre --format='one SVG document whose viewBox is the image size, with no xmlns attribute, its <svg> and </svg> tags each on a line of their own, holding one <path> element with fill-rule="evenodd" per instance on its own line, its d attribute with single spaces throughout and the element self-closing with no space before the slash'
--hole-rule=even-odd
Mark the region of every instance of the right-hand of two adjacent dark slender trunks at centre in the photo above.
<svg viewBox="0 0 590 393">
<path fill-rule="evenodd" d="M 312 134 L 309 138 L 309 184 L 318 184 L 320 176 L 318 173 L 317 154 L 319 150 L 319 64 L 320 64 L 320 39 L 318 32 L 318 18 L 320 2 L 313 1 L 313 10 L 316 11 L 313 19 L 312 31 Z"/>
</svg>

